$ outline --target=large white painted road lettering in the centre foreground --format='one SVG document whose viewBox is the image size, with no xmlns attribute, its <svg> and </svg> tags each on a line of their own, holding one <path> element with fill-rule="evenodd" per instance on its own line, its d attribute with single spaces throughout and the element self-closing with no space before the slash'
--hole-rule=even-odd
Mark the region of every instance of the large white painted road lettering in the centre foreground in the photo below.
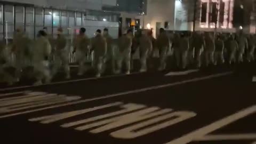
<svg viewBox="0 0 256 144">
<path fill-rule="evenodd" d="M 69 119 L 78 115 L 83 117 L 84 114 L 92 114 L 95 110 L 103 110 L 115 106 L 123 109 L 78 121 L 76 119 L 76 121 L 62 124 L 61 127 L 73 127 L 78 131 L 89 130 L 90 133 L 114 131 L 109 133 L 114 138 L 134 139 L 196 116 L 193 111 L 173 111 L 173 109 L 169 108 L 147 107 L 135 103 L 124 105 L 122 102 L 115 102 L 93 108 L 30 118 L 29 121 L 42 124 L 69 121 Z"/>
</svg>

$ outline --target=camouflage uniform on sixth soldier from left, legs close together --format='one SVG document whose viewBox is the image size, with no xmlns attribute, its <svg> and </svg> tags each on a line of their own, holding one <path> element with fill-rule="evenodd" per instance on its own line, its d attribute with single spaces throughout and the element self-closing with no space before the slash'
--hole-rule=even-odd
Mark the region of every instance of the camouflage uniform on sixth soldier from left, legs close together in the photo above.
<svg viewBox="0 0 256 144">
<path fill-rule="evenodd" d="M 102 35 L 98 34 L 92 40 L 92 51 L 94 51 L 95 66 L 97 69 L 97 77 L 102 73 L 102 65 L 107 54 L 107 41 Z"/>
</svg>

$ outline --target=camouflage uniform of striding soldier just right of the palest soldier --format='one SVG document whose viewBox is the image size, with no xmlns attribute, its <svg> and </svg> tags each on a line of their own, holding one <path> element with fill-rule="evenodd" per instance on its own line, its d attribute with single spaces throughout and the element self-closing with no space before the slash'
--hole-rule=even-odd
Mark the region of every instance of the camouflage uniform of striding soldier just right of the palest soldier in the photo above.
<svg viewBox="0 0 256 144">
<path fill-rule="evenodd" d="M 55 39 L 55 52 L 54 52 L 54 67 L 53 67 L 53 75 L 55 75 L 58 70 L 63 67 L 66 78 L 70 77 L 69 72 L 69 56 L 68 56 L 68 46 L 67 39 L 64 35 L 59 35 L 57 39 Z"/>
</svg>

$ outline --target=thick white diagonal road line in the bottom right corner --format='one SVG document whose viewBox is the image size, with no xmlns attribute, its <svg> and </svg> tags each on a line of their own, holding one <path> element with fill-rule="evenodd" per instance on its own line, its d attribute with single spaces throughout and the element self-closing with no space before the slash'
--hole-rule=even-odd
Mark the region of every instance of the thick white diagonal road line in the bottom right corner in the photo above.
<svg viewBox="0 0 256 144">
<path fill-rule="evenodd" d="M 238 111 L 237 113 L 235 113 L 233 115 L 230 115 L 228 117 L 220 119 L 217 122 L 214 122 L 210 125 L 204 126 L 201 129 L 197 129 L 196 131 L 190 132 L 181 138 L 175 139 L 175 140 L 167 142 L 165 144 L 187 144 L 189 142 L 192 142 L 199 138 L 204 137 L 206 134 L 209 134 L 215 130 L 220 129 L 223 126 L 234 123 L 235 121 L 237 121 L 243 117 L 254 114 L 255 112 L 256 112 L 256 105 L 246 108 L 246 109 L 243 109 L 241 111 Z"/>
</svg>

